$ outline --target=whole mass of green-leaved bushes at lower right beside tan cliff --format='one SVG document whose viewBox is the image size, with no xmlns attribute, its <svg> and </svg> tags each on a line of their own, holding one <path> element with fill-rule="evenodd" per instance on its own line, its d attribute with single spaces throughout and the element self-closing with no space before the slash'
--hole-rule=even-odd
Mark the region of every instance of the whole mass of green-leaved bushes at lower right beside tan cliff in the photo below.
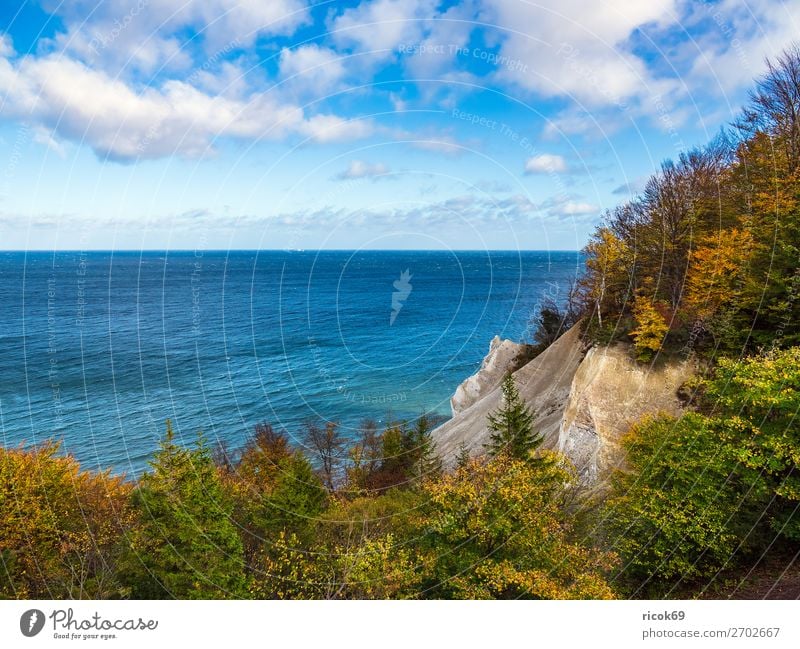
<svg viewBox="0 0 800 649">
<path fill-rule="evenodd" d="M 702 412 L 640 422 L 609 500 L 608 542 L 639 588 L 669 592 L 760 544 L 800 540 L 800 349 L 721 360 Z M 703 414 L 705 413 L 705 414 Z"/>
</svg>

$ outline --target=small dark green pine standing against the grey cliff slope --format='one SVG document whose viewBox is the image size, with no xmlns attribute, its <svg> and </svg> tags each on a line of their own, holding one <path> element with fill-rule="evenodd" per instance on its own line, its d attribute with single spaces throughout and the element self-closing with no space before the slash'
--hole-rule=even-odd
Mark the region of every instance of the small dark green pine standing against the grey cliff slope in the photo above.
<svg viewBox="0 0 800 649">
<path fill-rule="evenodd" d="M 488 416 L 492 435 L 486 448 L 493 457 L 505 454 L 520 460 L 530 460 L 533 451 L 544 441 L 533 427 L 536 415 L 520 396 L 517 383 L 510 373 L 503 379 L 501 390 L 503 402 Z"/>
</svg>

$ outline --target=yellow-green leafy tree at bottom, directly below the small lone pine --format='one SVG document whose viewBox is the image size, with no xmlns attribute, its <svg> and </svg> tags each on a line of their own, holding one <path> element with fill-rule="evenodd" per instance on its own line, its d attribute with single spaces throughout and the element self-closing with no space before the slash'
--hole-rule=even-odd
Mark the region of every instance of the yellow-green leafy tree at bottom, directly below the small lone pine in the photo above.
<svg viewBox="0 0 800 649">
<path fill-rule="evenodd" d="M 418 593 L 447 599 L 611 598 L 607 553 L 571 538 L 564 458 L 508 455 L 426 484 L 426 507 L 401 547 L 416 549 Z"/>
</svg>

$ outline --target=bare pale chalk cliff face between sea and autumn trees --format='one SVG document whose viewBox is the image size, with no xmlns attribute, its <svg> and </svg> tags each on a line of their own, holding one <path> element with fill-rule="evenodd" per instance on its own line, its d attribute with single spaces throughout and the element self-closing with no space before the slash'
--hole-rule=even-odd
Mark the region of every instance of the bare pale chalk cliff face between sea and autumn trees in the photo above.
<svg viewBox="0 0 800 649">
<path fill-rule="evenodd" d="M 498 353 L 505 342 L 492 341 L 481 370 L 459 386 L 453 418 L 433 431 L 445 466 L 452 466 L 462 444 L 473 456 L 484 451 L 486 417 L 501 400 L 499 383 L 505 371 L 499 368 L 513 350 L 511 343 Z M 488 367 L 493 369 L 481 377 Z M 587 352 L 576 325 L 516 370 L 514 378 L 520 395 L 536 410 L 544 447 L 562 451 L 581 481 L 592 485 L 624 461 L 619 441 L 631 424 L 648 413 L 680 412 L 677 391 L 696 371 L 691 361 L 637 364 L 625 343 Z"/>
</svg>

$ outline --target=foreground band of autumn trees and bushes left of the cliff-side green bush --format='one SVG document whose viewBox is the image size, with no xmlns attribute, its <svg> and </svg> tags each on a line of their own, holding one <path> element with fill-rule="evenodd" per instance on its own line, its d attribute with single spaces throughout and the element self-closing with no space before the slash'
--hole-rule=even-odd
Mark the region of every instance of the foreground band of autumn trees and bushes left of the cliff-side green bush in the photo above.
<svg viewBox="0 0 800 649">
<path fill-rule="evenodd" d="M 341 473 L 267 425 L 212 454 L 168 424 L 136 482 L 82 472 L 54 445 L 2 450 L 0 595 L 613 596 L 614 558 L 574 534 L 559 457 L 511 447 L 445 472 L 426 422 L 365 423 Z"/>
</svg>

